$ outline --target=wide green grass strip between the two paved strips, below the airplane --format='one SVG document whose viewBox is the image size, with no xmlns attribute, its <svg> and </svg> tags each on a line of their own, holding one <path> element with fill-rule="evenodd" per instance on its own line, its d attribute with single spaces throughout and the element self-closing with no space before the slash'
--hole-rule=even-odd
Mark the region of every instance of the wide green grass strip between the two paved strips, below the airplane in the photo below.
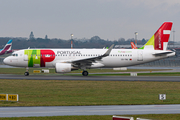
<svg viewBox="0 0 180 120">
<path fill-rule="evenodd" d="M 0 80 L 0 93 L 19 94 L 0 106 L 180 104 L 180 82 Z"/>
</svg>

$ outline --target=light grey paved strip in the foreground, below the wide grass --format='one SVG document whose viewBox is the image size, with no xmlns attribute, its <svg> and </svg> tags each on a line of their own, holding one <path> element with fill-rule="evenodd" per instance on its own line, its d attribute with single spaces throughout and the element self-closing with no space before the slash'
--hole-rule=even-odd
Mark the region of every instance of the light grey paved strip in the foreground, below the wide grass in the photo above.
<svg viewBox="0 0 180 120">
<path fill-rule="evenodd" d="M 0 107 L 0 117 L 179 114 L 180 105 Z"/>
</svg>

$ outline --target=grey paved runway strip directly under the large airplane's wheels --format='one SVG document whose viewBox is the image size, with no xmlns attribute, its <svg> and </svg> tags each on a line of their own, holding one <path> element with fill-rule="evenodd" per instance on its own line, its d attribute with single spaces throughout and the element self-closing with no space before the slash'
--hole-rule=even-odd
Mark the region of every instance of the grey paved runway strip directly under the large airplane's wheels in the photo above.
<svg viewBox="0 0 180 120">
<path fill-rule="evenodd" d="M 173 81 L 180 82 L 180 76 L 63 76 L 63 75 L 10 75 L 0 74 L 0 79 L 27 80 L 98 80 L 98 81 Z"/>
</svg>

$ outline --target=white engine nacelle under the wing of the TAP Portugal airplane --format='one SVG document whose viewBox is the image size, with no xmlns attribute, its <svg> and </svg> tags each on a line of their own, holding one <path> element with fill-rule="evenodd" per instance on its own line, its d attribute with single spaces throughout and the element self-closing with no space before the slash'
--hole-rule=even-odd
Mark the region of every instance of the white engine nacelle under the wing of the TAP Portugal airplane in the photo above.
<svg viewBox="0 0 180 120">
<path fill-rule="evenodd" d="M 69 63 L 56 63 L 56 73 L 67 73 L 71 72 L 71 64 Z"/>
</svg>

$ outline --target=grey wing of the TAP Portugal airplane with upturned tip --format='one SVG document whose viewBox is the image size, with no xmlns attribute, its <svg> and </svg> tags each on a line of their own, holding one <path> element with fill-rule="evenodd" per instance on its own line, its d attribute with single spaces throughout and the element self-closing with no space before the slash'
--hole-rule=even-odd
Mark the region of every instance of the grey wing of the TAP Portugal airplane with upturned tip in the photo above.
<svg viewBox="0 0 180 120">
<path fill-rule="evenodd" d="M 95 63 L 96 61 L 101 60 L 103 57 L 109 56 L 113 47 L 114 47 L 114 44 L 111 45 L 111 47 L 101 56 L 78 59 L 78 60 L 73 60 L 73 61 L 65 61 L 65 62 L 72 63 L 76 67 L 89 66 L 89 65 L 92 65 L 93 62 Z"/>
</svg>

